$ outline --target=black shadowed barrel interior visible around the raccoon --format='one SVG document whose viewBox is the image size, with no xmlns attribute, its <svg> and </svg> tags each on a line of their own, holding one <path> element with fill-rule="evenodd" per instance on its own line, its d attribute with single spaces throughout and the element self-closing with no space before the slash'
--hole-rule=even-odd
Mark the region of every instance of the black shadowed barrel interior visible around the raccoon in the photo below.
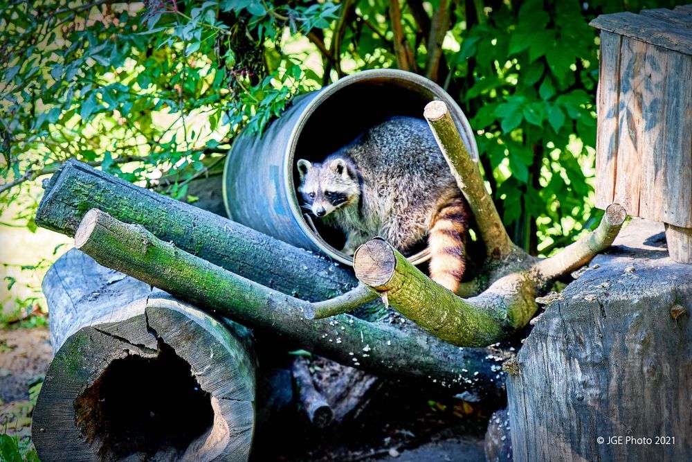
<svg viewBox="0 0 692 462">
<path fill-rule="evenodd" d="M 319 105 L 314 105 L 313 111 L 304 118 L 304 125 L 290 157 L 296 200 L 299 203 L 302 201 L 297 190 L 300 177 L 295 161 L 307 159 L 321 162 L 332 152 L 354 141 L 368 128 L 392 116 L 422 119 L 426 104 L 438 98 L 431 89 L 410 80 L 392 77 L 373 77 L 351 82 L 329 94 Z M 343 233 L 322 225 L 320 220 L 313 220 L 307 215 L 304 218 L 318 233 L 318 237 L 333 247 L 334 251 L 338 252 L 343 248 Z M 425 242 L 421 242 L 410 254 L 414 256 L 421 251 L 427 254 Z M 424 259 L 424 256 L 419 256 L 419 260 Z"/>
</svg>

